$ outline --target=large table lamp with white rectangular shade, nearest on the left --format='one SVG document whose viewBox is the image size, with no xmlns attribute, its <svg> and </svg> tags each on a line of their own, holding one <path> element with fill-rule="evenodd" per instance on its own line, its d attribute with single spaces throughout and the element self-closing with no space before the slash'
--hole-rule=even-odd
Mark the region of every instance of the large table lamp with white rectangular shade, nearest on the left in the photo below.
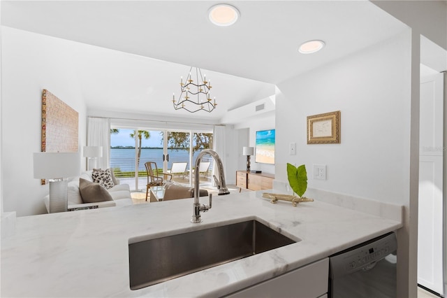
<svg viewBox="0 0 447 298">
<path fill-rule="evenodd" d="M 50 181 L 50 213 L 67 211 L 67 180 L 64 178 L 80 175 L 78 152 L 36 152 L 34 153 L 34 178 Z"/>
</svg>

